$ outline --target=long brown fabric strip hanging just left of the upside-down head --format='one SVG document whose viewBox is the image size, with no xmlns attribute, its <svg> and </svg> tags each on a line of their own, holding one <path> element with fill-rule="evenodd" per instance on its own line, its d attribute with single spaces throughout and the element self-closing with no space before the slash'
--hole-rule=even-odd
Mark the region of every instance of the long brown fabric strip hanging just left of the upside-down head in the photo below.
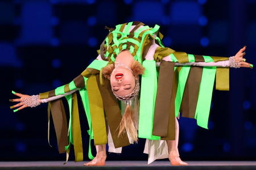
<svg viewBox="0 0 256 170">
<path fill-rule="evenodd" d="M 118 100 L 113 95 L 110 87 L 110 81 L 102 77 L 103 86 L 100 84 L 100 76 L 96 75 L 98 87 L 100 88 L 104 111 L 108 121 L 110 133 L 114 142 L 115 148 L 130 145 L 127 134 L 123 134 L 118 138 L 119 124 L 122 120 L 121 109 L 119 108 Z M 108 128 L 107 128 L 108 129 Z"/>
</svg>

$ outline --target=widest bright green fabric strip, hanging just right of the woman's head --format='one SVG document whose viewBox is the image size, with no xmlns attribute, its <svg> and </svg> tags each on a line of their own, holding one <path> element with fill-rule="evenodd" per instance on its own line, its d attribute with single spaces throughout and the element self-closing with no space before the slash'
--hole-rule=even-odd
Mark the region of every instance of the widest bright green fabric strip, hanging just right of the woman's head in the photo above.
<svg viewBox="0 0 256 170">
<path fill-rule="evenodd" d="M 157 90 L 156 67 L 154 60 L 143 61 L 145 68 L 141 80 L 141 100 L 139 107 L 139 138 L 159 140 L 152 135 L 154 124 L 155 99 Z M 150 86 L 149 86 L 150 85 Z"/>
</svg>

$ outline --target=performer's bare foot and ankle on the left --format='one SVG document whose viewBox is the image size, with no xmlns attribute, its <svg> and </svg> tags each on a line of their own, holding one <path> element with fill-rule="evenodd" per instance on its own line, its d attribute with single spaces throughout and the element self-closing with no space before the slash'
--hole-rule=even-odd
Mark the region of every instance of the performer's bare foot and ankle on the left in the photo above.
<svg viewBox="0 0 256 170">
<path fill-rule="evenodd" d="M 106 161 L 106 145 L 96 145 L 97 155 L 93 160 L 85 163 L 85 166 L 101 166 L 105 165 Z"/>
</svg>

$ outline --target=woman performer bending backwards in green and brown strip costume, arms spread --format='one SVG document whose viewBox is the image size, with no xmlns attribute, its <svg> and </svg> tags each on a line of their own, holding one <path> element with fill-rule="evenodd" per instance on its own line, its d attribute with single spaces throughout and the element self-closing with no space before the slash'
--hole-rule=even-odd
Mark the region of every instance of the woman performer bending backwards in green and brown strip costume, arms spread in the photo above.
<svg viewBox="0 0 256 170">
<path fill-rule="evenodd" d="M 108 29 L 98 57 L 72 82 L 39 95 L 13 92 L 20 98 L 10 100 L 19 102 L 11 109 L 48 103 L 48 128 L 52 114 L 59 152 L 67 152 L 68 160 L 72 144 L 75 161 L 82 161 L 79 93 L 89 125 L 88 156 L 93 159 L 84 165 L 105 165 L 106 143 L 109 152 L 121 153 L 138 137 L 146 138 L 148 164 L 168 158 L 172 165 L 187 165 L 177 148 L 179 113 L 207 128 L 215 77 L 217 90 L 229 90 L 229 67 L 253 68 L 243 58 L 246 46 L 233 57 L 198 56 L 164 47 L 159 25 L 130 22 Z M 68 101 L 69 122 L 61 97 Z"/>
</svg>

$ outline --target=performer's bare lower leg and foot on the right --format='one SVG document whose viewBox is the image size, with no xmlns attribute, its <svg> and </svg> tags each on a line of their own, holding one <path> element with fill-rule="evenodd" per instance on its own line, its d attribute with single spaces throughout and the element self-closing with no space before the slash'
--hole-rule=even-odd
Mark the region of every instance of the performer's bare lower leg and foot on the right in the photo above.
<svg viewBox="0 0 256 170">
<path fill-rule="evenodd" d="M 172 165 L 187 165 L 180 159 L 179 150 L 177 148 L 179 143 L 179 122 L 175 118 L 175 140 L 166 141 L 168 146 L 168 157 Z"/>
</svg>

